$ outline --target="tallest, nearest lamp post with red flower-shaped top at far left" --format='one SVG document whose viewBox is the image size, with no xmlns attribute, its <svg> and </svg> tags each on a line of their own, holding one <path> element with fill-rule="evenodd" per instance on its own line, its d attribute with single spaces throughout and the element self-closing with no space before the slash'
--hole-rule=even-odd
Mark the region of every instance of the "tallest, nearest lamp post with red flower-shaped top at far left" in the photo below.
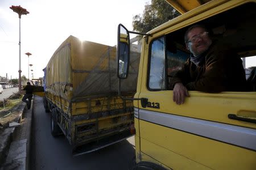
<svg viewBox="0 0 256 170">
<path fill-rule="evenodd" d="M 14 12 L 16 12 L 19 15 L 19 92 L 21 92 L 21 73 L 22 70 L 20 69 L 20 18 L 22 15 L 27 15 L 30 14 L 30 12 L 28 12 L 25 8 L 22 8 L 21 6 L 11 6 L 10 7 L 11 10 L 13 10 Z"/>
</svg>

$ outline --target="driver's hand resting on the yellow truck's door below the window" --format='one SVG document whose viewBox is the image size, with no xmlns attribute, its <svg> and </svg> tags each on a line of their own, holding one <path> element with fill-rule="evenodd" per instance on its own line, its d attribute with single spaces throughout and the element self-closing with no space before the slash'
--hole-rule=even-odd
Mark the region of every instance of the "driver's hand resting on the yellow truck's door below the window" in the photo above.
<svg viewBox="0 0 256 170">
<path fill-rule="evenodd" d="M 187 88 L 180 82 L 175 83 L 174 94 L 172 97 L 174 102 L 176 102 L 176 104 L 183 104 L 186 96 L 189 96 Z"/>
</svg>

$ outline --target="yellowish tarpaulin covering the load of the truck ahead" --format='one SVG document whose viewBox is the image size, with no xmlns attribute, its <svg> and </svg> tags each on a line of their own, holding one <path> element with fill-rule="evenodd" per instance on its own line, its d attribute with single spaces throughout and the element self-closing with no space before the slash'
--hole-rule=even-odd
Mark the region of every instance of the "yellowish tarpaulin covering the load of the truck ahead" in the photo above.
<svg viewBox="0 0 256 170">
<path fill-rule="evenodd" d="M 117 64 L 113 46 L 80 41 L 69 36 L 53 54 L 46 68 L 46 91 L 67 100 L 117 95 Z M 135 92 L 140 53 L 131 52 L 122 92 Z"/>
</svg>

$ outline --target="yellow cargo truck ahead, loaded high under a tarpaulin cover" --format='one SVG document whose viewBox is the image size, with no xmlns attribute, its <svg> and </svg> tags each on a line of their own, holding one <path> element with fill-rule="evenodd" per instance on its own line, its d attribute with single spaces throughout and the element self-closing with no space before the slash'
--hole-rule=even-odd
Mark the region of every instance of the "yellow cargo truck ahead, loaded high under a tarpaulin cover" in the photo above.
<svg viewBox="0 0 256 170">
<path fill-rule="evenodd" d="M 85 154 L 134 134 L 133 103 L 118 96 L 116 48 L 69 36 L 44 69 L 44 108 L 51 134 L 64 134 L 73 155 Z M 135 94 L 139 53 L 131 52 L 122 94 Z"/>
</svg>

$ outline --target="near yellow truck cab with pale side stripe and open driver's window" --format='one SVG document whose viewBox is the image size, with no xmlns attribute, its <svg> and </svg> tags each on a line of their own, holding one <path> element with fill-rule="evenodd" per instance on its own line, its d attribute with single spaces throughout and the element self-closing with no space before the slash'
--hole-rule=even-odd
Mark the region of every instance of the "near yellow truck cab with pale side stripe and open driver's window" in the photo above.
<svg viewBox="0 0 256 170">
<path fill-rule="evenodd" d="M 255 56 L 256 1 L 167 2 L 182 15 L 144 33 L 142 39 L 137 92 L 132 99 L 134 169 L 256 169 L 255 91 L 189 91 L 185 103 L 177 105 L 169 86 L 189 56 L 184 33 L 192 25 L 207 25 L 214 39 L 241 58 Z M 134 32 L 118 25 L 120 79 L 130 76 L 129 55 L 123 55 L 129 53 L 130 33 Z M 250 86 L 256 86 L 255 78 L 248 82 Z"/>
</svg>

